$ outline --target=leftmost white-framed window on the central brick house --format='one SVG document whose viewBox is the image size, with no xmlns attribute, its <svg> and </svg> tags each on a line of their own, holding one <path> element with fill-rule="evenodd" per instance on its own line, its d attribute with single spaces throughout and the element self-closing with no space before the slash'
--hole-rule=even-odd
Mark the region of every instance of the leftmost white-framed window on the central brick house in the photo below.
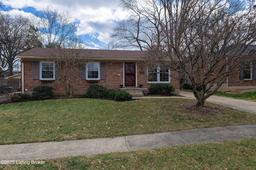
<svg viewBox="0 0 256 170">
<path fill-rule="evenodd" d="M 40 80 L 55 80 L 54 62 L 40 62 Z"/>
</svg>

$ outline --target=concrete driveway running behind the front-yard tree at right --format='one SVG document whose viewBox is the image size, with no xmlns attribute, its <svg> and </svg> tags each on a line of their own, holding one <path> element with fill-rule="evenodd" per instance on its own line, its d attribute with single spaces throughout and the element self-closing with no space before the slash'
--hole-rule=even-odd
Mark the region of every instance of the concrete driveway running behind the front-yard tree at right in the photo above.
<svg viewBox="0 0 256 170">
<path fill-rule="evenodd" d="M 180 95 L 196 99 L 194 94 L 191 92 L 180 91 Z M 226 98 L 226 97 L 220 97 L 220 96 L 210 96 L 208 99 L 206 99 L 206 101 L 220 104 L 227 107 L 232 107 L 238 110 L 256 113 L 256 102 L 250 102 L 246 100 L 239 100 L 239 99 Z"/>
</svg>

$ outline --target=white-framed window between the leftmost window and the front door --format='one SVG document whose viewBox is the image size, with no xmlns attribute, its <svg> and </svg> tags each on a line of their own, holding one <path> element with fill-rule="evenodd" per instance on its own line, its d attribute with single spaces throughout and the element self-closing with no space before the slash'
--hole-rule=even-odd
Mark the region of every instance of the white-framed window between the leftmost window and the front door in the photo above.
<svg viewBox="0 0 256 170">
<path fill-rule="evenodd" d="M 100 63 L 86 64 L 86 80 L 100 80 Z"/>
</svg>

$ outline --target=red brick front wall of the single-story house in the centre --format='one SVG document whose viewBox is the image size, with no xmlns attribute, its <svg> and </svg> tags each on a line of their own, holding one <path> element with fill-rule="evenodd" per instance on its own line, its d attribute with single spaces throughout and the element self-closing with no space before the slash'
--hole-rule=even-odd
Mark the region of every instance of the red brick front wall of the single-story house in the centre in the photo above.
<svg viewBox="0 0 256 170">
<path fill-rule="evenodd" d="M 79 69 L 77 69 L 77 75 L 75 81 L 75 90 L 87 90 L 92 84 L 99 84 L 107 89 L 117 90 L 120 88 L 120 84 L 123 82 L 123 67 L 122 62 L 106 62 L 106 80 L 99 80 L 97 83 L 86 82 L 86 80 L 80 80 L 79 78 Z M 62 70 L 63 71 L 63 70 Z M 180 88 L 180 80 L 178 73 L 171 72 L 171 83 L 174 85 L 175 89 Z M 142 66 L 141 63 L 137 63 L 137 84 L 143 84 L 144 88 L 149 88 L 151 84 L 147 83 L 147 70 L 145 66 Z M 51 81 L 42 81 L 42 80 L 33 80 L 32 79 L 32 61 L 24 61 L 24 90 L 32 91 L 36 86 L 51 86 L 54 91 L 64 91 L 64 86 L 61 80 Z"/>
</svg>

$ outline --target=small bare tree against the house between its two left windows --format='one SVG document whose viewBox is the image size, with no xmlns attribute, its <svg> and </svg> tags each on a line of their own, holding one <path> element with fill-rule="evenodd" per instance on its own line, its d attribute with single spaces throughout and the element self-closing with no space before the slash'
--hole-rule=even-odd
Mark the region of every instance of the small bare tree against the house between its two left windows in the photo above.
<svg viewBox="0 0 256 170">
<path fill-rule="evenodd" d="M 56 79 L 61 80 L 66 95 L 73 96 L 75 83 L 80 81 L 81 67 L 85 68 L 90 53 L 77 37 L 62 43 L 61 48 L 53 48 L 49 60 L 55 63 Z"/>
</svg>

